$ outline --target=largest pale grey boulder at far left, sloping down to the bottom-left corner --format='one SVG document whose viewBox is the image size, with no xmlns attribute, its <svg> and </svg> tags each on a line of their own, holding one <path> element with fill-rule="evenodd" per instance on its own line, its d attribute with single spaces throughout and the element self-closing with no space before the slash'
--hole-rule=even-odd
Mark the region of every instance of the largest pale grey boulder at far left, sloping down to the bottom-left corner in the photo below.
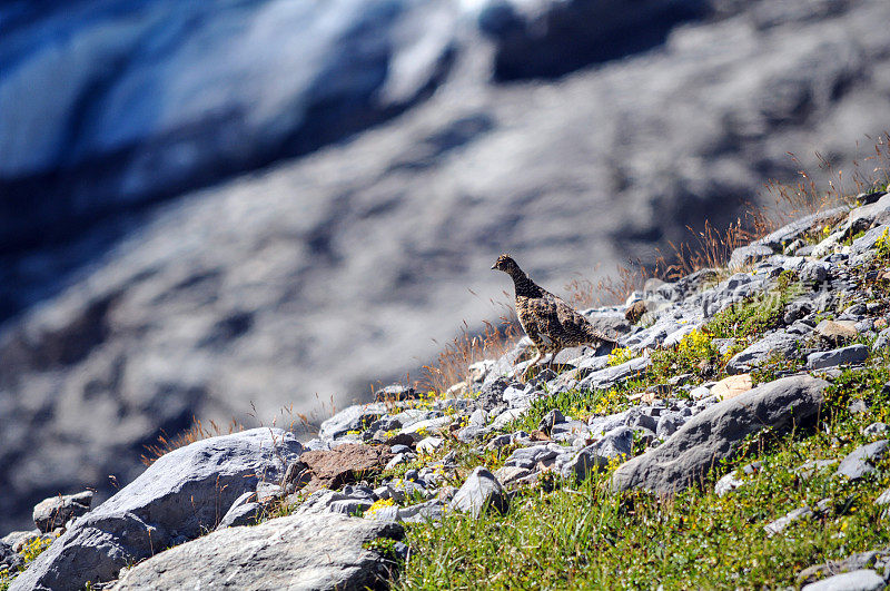
<svg viewBox="0 0 890 591">
<path fill-rule="evenodd" d="M 279 429 L 211 437 L 158 459 L 115 496 L 77 519 L 10 591 L 76 590 L 192 540 L 261 481 L 280 480 L 303 446 Z"/>
</svg>

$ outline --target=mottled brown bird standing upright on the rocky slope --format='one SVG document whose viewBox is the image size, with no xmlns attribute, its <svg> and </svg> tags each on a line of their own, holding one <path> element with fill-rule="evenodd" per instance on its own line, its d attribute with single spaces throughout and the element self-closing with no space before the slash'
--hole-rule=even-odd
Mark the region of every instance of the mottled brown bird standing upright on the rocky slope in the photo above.
<svg viewBox="0 0 890 591">
<path fill-rule="evenodd" d="M 587 318 L 564 299 L 533 282 L 510 255 L 497 257 L 492 269 L 503 270 L 513 279 L 516 316 L 537 348 L 537 354 L 526 367 L 523 378 L 547 353 L 552 353 L 546 364 L 550 367 L 563 348 L 586 344 L 617 344 L 615 338 L 594 328 Z"/>
</svg>

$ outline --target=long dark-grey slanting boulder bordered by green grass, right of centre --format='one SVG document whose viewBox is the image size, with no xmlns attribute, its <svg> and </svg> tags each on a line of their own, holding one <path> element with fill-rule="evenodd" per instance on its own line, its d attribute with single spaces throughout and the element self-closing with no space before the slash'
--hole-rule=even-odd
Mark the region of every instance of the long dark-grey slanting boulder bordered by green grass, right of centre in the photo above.
<svg viewBox="0 0 890 591">
<path fill-rule="evenodd" d="M 690 418 L 668 441 L 619 466 L 617 490 L 671 493 L 695 484 L 733 453 L 744 437 L 768 426 L 783 430 L 818 416 L 828 382 L 783 377 L 721 402 Z"/>
</svg>

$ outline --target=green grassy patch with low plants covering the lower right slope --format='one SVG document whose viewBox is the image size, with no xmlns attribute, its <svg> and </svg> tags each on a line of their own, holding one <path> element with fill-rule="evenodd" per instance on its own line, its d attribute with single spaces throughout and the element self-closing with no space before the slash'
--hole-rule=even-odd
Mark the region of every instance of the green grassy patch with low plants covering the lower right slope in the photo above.
<svg viewBox="0 0 890 591">
<path fill-rule="evenodd" d="M 523 489 L 505 515 L 451 515 L 441 526 L 408 525 L 412 560 L 402 589 L 734 589 L 795 584 L 799 571 L 828 559 L 890 543 L 873 500 L 890 484 L 890 465 L 858 482 L 832 470 L 811 480 L 794 469 L 808 460 L 841 459 L 869 440 L 861 430 L 888 418 L 887 359 L 846 371 L 827 393 L 819 429 L 752 440 L 702 489 L 670 499 L 609 491 L 609 473 L 552 492 Z M 871 411 L 851 415 L 864 397 Z M 872 437 L 877 439 L 877 437 Z M 762 470 L 718 498 L 716 477 L 759 459 Z M 831 498 L 822 516 L 768 536 L 763 526 L 787 512 Z M 769 500 L 769 502 L 764 502 Z"/>
</svg>

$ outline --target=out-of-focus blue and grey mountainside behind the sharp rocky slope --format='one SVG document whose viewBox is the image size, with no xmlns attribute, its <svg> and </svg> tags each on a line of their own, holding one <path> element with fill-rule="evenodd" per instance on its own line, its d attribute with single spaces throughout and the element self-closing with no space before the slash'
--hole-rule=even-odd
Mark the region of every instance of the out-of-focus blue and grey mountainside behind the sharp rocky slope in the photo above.
<svg viewBox="0 0 890 591">
<path fill-rule="evenodd" d="M 101 500 L 194 417 L 283 424 L 416 376 L 496 316 L 501 252 L 560 290 L 818 176 L 815 151 L 867 168 L 888 22 L 887 0 L 0 1 L 0 533 Z"/>
</svg>

